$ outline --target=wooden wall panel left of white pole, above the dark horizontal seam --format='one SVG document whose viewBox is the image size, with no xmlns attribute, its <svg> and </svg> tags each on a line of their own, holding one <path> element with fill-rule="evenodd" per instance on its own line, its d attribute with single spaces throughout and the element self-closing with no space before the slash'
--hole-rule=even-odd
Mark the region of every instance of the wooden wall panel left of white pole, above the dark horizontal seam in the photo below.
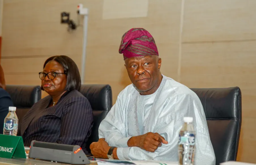
<svg viewBox="0 0 256 165">
<path fill-rule="evenodd" d="M 3 56 L 82 54 L 82 28 L 67 32 L 67 24 L 60 23 L 60 15 L 68 11 L 77 20 L 76 6 L 85 1 L 49 2 L 4 1 Z M 12 14 L 13 11 L 19 14 Z"/>
</svg>

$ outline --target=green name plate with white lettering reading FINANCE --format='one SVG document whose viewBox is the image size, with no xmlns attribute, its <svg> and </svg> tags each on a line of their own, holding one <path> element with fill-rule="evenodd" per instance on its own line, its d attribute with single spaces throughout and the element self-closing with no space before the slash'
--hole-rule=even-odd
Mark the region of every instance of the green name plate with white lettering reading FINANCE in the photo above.
<svg viewBox="0 0 256 165">
<path fill-rule="evenodd" d="M 0 134 L 0 157 L 26 158 L 22 137 Z"/>
</svg>

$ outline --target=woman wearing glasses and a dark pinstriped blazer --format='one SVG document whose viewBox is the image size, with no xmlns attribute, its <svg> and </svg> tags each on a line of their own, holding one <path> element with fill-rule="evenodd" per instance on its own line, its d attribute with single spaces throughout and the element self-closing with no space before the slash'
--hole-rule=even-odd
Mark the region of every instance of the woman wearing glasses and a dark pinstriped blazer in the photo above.
<svg viewBox="0 0 256 165">
<path fill-rule="evenodd" d="M 39 73 L 41 89 L 49 95 L 33 105 L 22 119 L 24 146 L 32 140 L 79 145 L 85 143 L 93 123 L 89 101 L 80 92 L 81 78 L 75 62 L 64 55 L 48 58 Z"/>
</svg>

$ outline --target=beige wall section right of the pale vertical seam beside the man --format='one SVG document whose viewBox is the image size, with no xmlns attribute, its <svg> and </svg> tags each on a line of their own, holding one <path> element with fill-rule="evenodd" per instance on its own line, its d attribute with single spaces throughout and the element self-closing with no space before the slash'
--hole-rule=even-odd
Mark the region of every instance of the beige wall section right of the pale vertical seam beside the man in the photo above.
<svg viewBox="0 0 256 165">
<path fill-rule="evenodd" d="M 256 1 L 186 0 L 180 82 L 188 87 L 240 87 L 238 161 L 255 163 Z M 221 129 L 221 128 L 220 128 Z"/>
</svg>

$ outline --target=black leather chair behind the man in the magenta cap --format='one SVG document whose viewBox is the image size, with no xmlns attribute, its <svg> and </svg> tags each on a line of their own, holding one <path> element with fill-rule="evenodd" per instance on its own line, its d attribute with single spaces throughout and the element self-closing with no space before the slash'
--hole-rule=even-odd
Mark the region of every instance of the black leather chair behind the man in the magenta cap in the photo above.
<svg viewBox="0 0 256 165">
<path fill-rule="evenodd" d="M 207 119 L 216 165 L 236 161 L 242 122 L 239 87 L 191 89 L 200 98 Z"/>
</svg>

